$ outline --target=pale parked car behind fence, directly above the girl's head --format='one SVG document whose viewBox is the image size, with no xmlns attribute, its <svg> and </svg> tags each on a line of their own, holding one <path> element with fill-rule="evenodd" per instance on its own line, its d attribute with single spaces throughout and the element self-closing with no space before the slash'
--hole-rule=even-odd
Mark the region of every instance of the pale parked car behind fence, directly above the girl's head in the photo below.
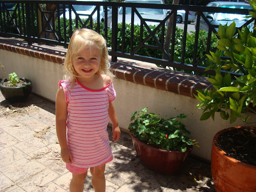
<svg viewBox="0 0 256 192">
<path fill-rule="evenodd" d="M 91 1 L 91 0 L 78 0 L 78 1 Z M 102 1 L 107 2 L 107 0 L 94 0 L 94 1 Z M 93 10 L 96 8 L 95 5 L 73 5 L 75 12 L 71 11 L 71 18 L 74 20 L 76 17 L 80 17 L 81 19 L 87 19 L 90 14 L 92 14 Z M 65 17 L 69 19 L 69 10 L 65 12 Z M 63 18 L 63 14 L 60 15 L 60 18 Z M 97 21 L 97 11 L 92 15 L 92 20 Z M 103 6 L 100 6 L 100 22 L 105 21 L 105 10 Z M 108 27 L 112 22 L 112 9 L 108 7 Z"/>
</svg>

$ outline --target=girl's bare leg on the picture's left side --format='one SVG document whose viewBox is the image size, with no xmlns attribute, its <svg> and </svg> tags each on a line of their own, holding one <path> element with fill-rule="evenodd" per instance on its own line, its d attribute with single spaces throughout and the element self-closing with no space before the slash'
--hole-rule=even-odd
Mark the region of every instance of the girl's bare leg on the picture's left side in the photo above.
<svg viewBox="0 0 256 192">
<path fill-rule="evenodd" d="M 84 181 L 87 176 L 87 171 L 82 174 L 73 174 L 72 180 L 70 182 L 69 190 L 70 192 L 83 192 Z"/>
</svg>

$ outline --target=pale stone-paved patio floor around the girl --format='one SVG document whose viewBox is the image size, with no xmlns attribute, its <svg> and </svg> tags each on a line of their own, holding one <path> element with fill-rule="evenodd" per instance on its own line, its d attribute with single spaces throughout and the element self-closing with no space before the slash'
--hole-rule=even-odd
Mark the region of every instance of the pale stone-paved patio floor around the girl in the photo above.
<svg viewBox="0 0 256 192">
<path fill-rule="evenodd" d="M 54 114 L 52 102 L 33 94 L 25 105 L 10 105 L 0 94 L 0 192 L 69 191 L 71 174 L 60 158 Z M 140 163 L 126 132 L 110 146 L 114 160 L 106 166 L 106 192 L 215 191 L 210 164 L 188 158 L 179 174 L 160 175 Z M 85 192 L 94 191 L 90 182 L 89 172 Z"/>
</svg>

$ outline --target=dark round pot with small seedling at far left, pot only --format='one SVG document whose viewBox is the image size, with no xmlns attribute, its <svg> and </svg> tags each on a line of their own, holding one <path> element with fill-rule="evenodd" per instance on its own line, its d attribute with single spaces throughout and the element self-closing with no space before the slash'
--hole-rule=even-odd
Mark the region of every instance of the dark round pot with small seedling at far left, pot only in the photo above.
<svg viewBox="0 0 256 192">
<path fill-rule="evenodd" d="M 4 98 L 10 102 L 25 102 L 28 99 L 28 96 L 31 93 L 32 85 L 29 79 L 25 79 L 27 83 L 20 87 L 5 87 L 2 86 L 3 82 L 8 81 L 7 79 L 3 79 L 0 83 L 0 90 Z"/>
</svg>

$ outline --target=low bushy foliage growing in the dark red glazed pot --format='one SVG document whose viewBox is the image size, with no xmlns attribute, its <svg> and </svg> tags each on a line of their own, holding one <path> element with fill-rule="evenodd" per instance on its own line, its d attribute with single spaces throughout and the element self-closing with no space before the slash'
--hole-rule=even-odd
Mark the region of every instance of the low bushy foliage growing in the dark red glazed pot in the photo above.
<svg viewBox="0 0 256 192">
<path fill-rule="evenodd" d="M 185 152 L 195 140 L 190 139 L 182 120 L 187 116 L 180 114 L 176 118 L 163 119 L 157 114 L 147 113 L 148 108 L 132 113 L 128 129 L 131 134 L 139 140 L 163 150 L 179 150 Z M 177 120 L 179 119 L 179 120 Z M 195 145 L 199 148 L 198 145 Z"/>
</svg>

